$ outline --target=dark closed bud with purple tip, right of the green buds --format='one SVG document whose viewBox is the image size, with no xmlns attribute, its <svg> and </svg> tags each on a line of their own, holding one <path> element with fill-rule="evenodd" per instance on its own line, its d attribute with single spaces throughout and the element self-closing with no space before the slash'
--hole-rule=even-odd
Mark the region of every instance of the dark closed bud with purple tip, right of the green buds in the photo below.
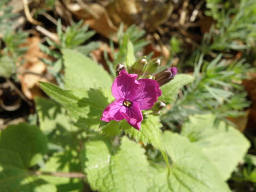
<svg viewBox="0 0 256 192">
<path fill-rule="evenodd" d="M 166 68 L 162 71 L 159 71 L 156 73 L 155 76 L 155 81 L 160 85 L 164 85 L 174 79 L 174 76 L 177 74 L 177 68 L 176 67 L 171 67 L 171 68 Z"/>
</svg>

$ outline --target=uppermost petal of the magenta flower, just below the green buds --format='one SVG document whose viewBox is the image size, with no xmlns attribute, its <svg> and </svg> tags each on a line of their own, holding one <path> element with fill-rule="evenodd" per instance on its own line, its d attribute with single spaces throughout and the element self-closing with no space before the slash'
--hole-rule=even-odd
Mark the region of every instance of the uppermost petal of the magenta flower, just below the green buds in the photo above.
<svg viewBox="0 0 256 192">
<path fill-rule="evenodd" d="M 128 74 L 125 70 L 119 72 L 111 87 L 112 95 L 115 99 L 124 98 L 126 100 L 134 100 L 140 84 L 136 80 L 138 75 Z"/>
</svg>

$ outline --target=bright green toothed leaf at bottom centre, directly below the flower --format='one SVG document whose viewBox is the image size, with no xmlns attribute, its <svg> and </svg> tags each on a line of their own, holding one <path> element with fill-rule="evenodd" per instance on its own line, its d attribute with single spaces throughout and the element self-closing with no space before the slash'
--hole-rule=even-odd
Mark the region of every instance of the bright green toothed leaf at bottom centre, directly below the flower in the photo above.
<svg viewBox="0 0 256 192">
<path fill-rule="evenodd" d="M 127 137 L 123 137 L 116 148 L 106 137 L 90 138 L 81 156 L 92 190 L 146 191 L 148 162 L 144 152 Z"/>
</svg>

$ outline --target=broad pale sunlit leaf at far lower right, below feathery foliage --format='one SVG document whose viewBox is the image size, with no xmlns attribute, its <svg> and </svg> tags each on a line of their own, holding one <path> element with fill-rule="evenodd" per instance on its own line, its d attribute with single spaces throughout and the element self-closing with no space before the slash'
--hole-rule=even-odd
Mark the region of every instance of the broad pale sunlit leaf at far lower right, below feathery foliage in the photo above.
<svg viewBox="0 0 256 192">
<path fill-rule="evenodd" d="M 250 142 L 237 129 L 224 122 L 220 122 L 218 127 L 214 126 L 215 119 L 211 114 L 191 116 L 182 125 L 181 134 L 200 147 L 223 180 L 227 180 L 250 147 Z"/>
</svg>

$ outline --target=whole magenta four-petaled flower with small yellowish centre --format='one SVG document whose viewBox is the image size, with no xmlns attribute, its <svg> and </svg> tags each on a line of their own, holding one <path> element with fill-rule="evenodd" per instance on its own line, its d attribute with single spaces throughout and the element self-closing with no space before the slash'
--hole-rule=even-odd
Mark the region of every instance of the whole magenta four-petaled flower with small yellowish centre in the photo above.
<svg viewBox="0 0 256 192">
<path fill-rule="evenodd" d="M 121 121 L 125 119 L 132 127 L 140 131 L 143 120 L 141 110 L 151 108 L 161 96 L 159 84 L 152 79 L 139 79 L 136 74 L 128 74 L 125 70 L 119 72 L 111 87 L 116 99 L 103 111 L 100 120 Z"/>
</svg>

